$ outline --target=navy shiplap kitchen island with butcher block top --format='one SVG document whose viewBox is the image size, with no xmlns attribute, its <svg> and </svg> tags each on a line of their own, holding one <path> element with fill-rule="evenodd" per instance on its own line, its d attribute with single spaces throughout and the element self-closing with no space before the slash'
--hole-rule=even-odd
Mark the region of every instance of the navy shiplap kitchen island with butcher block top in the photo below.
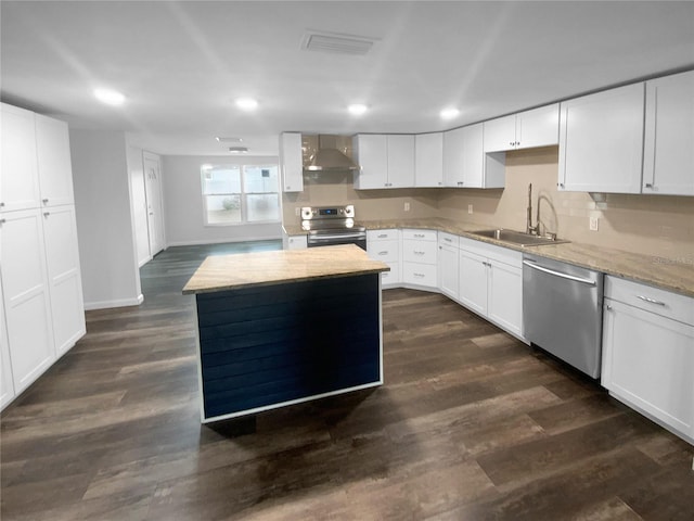
<svg viewBox="0 0 694 521">
<path fill-rule="evenodd" d="M 351 244 L 207 257 L 183 288 L 202 421 L 381 385 L 388 269 Z"/>
</svg>

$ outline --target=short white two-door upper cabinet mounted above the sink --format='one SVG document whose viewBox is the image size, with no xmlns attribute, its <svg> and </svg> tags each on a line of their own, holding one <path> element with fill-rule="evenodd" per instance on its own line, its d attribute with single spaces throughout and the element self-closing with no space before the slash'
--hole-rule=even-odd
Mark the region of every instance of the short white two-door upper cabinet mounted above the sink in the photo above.
<svg viewBox="0 0 694 521">
<path fill-rule="evenodd" d="M 485 152 L 531 149 L 557 144 L 560 139 L 560 105 L 499 117 L 484 123 Z"/>
</svg>

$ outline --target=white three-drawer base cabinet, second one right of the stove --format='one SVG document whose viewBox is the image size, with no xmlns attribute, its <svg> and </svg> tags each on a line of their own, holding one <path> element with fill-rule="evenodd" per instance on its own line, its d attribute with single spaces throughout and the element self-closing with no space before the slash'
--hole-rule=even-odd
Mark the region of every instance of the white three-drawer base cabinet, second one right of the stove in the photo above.
<svg viewBox="0 0 694 521">
<path fill-rule="evenodd" d="M 437 232 L 402 230 L 402 282 L 423 290 L 436 290 Z"/>
</svg>

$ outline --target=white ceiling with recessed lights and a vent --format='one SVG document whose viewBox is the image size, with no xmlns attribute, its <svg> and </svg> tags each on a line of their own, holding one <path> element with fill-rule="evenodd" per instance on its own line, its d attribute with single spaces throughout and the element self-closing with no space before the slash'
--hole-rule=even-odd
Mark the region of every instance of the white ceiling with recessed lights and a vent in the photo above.
<svg viewBox="0 0 694 521">
<path fill-rule="evenodd" d="M 691 1 L 3 0 L 0 18 L 3 101 L 160 154 L 224 154 L 216 136 L 277 155 L 284 130 L 444 130 L 694 67 Z M 308 29 L 375 43 L 308 51 Z M 349 115 L 355 102 L 369 112 Z M 450 105 L 460 116 L 441 120 Z"/>
</svg>

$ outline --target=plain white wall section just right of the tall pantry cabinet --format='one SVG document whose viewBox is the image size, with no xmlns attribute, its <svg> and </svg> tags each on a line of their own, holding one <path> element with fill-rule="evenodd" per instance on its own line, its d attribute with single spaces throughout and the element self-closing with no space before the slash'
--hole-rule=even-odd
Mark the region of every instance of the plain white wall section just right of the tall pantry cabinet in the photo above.
<svg viewBox="0 0 694 521">
<path fill-rule="evenodd" d="M 142 302 L 124 132 L 69 132 L 85 307 Z"/>
</svg>

